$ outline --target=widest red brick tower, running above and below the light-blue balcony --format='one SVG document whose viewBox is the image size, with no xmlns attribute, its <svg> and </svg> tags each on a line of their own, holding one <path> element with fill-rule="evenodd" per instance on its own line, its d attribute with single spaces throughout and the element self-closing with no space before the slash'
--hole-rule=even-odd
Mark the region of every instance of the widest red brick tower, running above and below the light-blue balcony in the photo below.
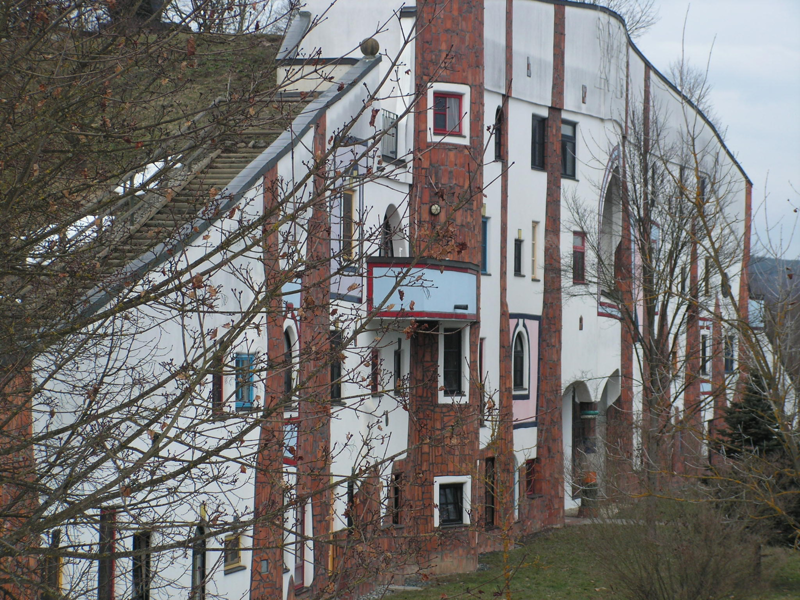
<svg viewBox="0 0 800 600">
<path fill-rule="evenodd" d="M 414 75 L 419 94 L 415 113 L 414 185 L 410 200 L 411 248 L 418 256 L 481 262 L 483 204 L 483 2 L 424 0 L 417 3 Z M 427 90 L 438 83 L 470 87 L 470 122 L 462 122 L 465 143 L 429 143 Z M 458 141 L 465 141 L 459 138 Z M 441 213 L 433 215 L 430 206 Z M 478 295 L 478 302 L 480 296 Z M 478 315 L 480 306 L 478 306 Z M 478 317 L 479 318 L 479 317 Z M 411 340 L 409 472 L 407 529 L 410 540 L 400 549 L 420 551 L 420 562 L 438 570 L 471 570 L 477 566 L 475 537 L 469 529 L 433 532 L 433 478 L 472 474 L 477 509 L 478 388 L 470 382 L 469 402 L 438 404 L 438 323 L 425 323 Z M 470 326 L 470 366 L 478 365 L 479 323 Z M 474 510 L 478 520 L 482 511 Z"/>
</svg>

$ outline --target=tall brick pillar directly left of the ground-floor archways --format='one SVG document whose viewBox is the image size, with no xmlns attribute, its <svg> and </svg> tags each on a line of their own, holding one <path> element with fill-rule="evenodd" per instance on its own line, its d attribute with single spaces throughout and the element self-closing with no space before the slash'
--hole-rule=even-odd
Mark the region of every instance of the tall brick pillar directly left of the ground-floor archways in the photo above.
<svg viewBox="0 0 800 600">
<path fill-rule="evenodd" d="M 564 521 L 564 449 L 562 440 L 562 272 L 561 272 L 561 113 L 564 106 L 564 6 L 554 6 L 553 90 L 547 114 L 545 167 L 544 300 L 539 352 L 541 391 L 538 406 L 538 465 L 547 482 L 542 502 L 543 526 Z"/>
</svg>

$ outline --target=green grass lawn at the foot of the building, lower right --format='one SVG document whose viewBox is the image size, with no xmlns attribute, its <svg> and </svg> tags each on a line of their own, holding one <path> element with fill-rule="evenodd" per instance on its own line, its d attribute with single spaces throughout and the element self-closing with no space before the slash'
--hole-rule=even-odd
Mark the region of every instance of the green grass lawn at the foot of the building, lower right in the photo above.
<svg viewBox="0 0 800 600">
<path fill-rule="evenodd" d="M 550 530 L 526 538 L 509 554 L 514 569 L 511 598 L 514 600 L 597 600 L 625 598 L 604 577 L 602 556 L 591 547 L 594 526 Z M 766 585 L 753 600 L 797 600 L 800 598 L 800 553 L 766 550 Z M 392 600 L 442 600 L 442 598 L 506 598 L 495 596 L 503 589 L 500 552 L 484 554 L 481 562 L 489 570 L 431 578 L 422 591 L 392 594 Z M 481 593 L 482 592 L 482 593 Z M 734 598 L 734 597 L 731 597 Z M 735 597 L 744 598 L 744 597 Z"/>
</svg>

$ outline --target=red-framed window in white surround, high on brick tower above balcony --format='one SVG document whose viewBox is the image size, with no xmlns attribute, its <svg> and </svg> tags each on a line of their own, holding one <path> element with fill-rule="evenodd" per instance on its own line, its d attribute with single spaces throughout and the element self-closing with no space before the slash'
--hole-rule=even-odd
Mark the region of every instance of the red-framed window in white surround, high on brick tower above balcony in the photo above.
<svg viewBox="0 0 800 600">
<path fill-rule="evenodd" d="M 436 82 L 428 88 L 428 142 L 470 144 L 470 86 Z"/>
</svg>

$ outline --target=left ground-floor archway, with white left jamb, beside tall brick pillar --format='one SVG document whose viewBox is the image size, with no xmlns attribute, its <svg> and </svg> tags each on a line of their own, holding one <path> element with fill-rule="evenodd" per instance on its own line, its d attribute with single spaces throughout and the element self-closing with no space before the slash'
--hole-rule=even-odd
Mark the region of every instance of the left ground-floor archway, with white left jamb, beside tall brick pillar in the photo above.
<svg viewBox="0 0 800 600">
<path fill-rule="evenodd" d="M 582 486 L 594 454 L 594 419 L 581 418 L 582 411 L 594 408 L 586 382 L 570 383 L 562 397 L 562 439 L 564 448 L 564 507 L 580 506 Z"/>
</svg>

